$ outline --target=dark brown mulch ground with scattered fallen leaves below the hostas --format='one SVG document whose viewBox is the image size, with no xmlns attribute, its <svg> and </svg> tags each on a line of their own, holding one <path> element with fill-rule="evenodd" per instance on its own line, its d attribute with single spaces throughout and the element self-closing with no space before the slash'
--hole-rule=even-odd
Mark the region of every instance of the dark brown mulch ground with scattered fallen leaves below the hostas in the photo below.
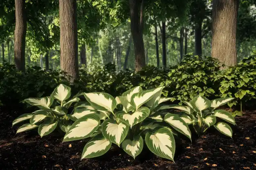
<svg viewBox="0 0 256 170">
<path fill-rule="evenodd" d="M 11 121 L 17 113 L 12 115 L 0 113 L 0 169 L 3 170 L 256 169 L 256 111 L 236 117 L 238 126 L 232 127 L 233 139 L 213 128 L 192 144 L 182 140 L 176 148 L 175 163 L 147 149 L 133 160 L 117 147 L 102 157 L 81 160 L 85 140 L 62 143 L 62 137 L 56 133 L 43 138 L 36 132 L 16 135 L 17 127 L 11 128 Z"/>
</svg>

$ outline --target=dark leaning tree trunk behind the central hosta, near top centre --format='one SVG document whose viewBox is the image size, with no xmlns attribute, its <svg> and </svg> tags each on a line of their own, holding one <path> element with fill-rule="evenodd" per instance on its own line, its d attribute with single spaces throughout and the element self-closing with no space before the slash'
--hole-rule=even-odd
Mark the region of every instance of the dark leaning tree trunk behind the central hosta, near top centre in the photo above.
<svg viewBox="0 0 256 170">
<path fill-rule="evenodd" d="M 144 0 L 129 0 L 130 1 L 130 22 L 131 33 L 133 38 L 133 45 L 135 51 L 135 71 L 140 71 L 141 68 L 146 66 L 145 49 L 143 42 L 143 8 Z M 139 4 L 139 2 L 141 2 Z M 140 12 L 138 7 L 140 6 Z M 140 13 L 140 15 L 138 15 Z"/>
</svg>

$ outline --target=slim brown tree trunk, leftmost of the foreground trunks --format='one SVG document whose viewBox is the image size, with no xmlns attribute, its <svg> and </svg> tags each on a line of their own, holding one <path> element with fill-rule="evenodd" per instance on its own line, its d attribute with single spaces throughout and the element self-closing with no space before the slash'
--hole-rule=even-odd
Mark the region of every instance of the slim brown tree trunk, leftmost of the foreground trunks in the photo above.
<svg viewBox="0 0 256 170">
<path fill-rule="evenodd" d="M 19 71 L 25 71 L 25 46 L 27 33 L 27 17 L 25 0 L 15 0 L 15 32 L 14 60 Z"/>
</svg>

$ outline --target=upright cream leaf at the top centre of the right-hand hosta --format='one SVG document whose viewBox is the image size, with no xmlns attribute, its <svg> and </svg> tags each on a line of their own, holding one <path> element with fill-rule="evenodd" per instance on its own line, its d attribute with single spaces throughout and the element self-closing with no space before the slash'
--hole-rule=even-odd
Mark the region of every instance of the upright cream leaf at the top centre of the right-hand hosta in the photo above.
<svg viewBox="0 0 256 170">
<path fill-rule="evenodd" d="M 202 117 L 202 110 L 209 108 L 211 106 L 211 101 L 206 97 L 198 95 L 191 100 L 190 104 Z"/>
</svg>

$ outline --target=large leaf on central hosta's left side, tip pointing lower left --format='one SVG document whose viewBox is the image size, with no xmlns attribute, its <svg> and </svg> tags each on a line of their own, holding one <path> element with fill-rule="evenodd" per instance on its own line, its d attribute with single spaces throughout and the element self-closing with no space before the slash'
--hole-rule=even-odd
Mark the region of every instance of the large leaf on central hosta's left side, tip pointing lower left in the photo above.
<svg viewBox="0 0 256 170">
<path fill-rule="evenodd" d="M 64 136 L 64 141 L 75 141 L 90 137 L 100 125 L 99 115 L 89 114 L 76 120 Z"/>
</svg>

